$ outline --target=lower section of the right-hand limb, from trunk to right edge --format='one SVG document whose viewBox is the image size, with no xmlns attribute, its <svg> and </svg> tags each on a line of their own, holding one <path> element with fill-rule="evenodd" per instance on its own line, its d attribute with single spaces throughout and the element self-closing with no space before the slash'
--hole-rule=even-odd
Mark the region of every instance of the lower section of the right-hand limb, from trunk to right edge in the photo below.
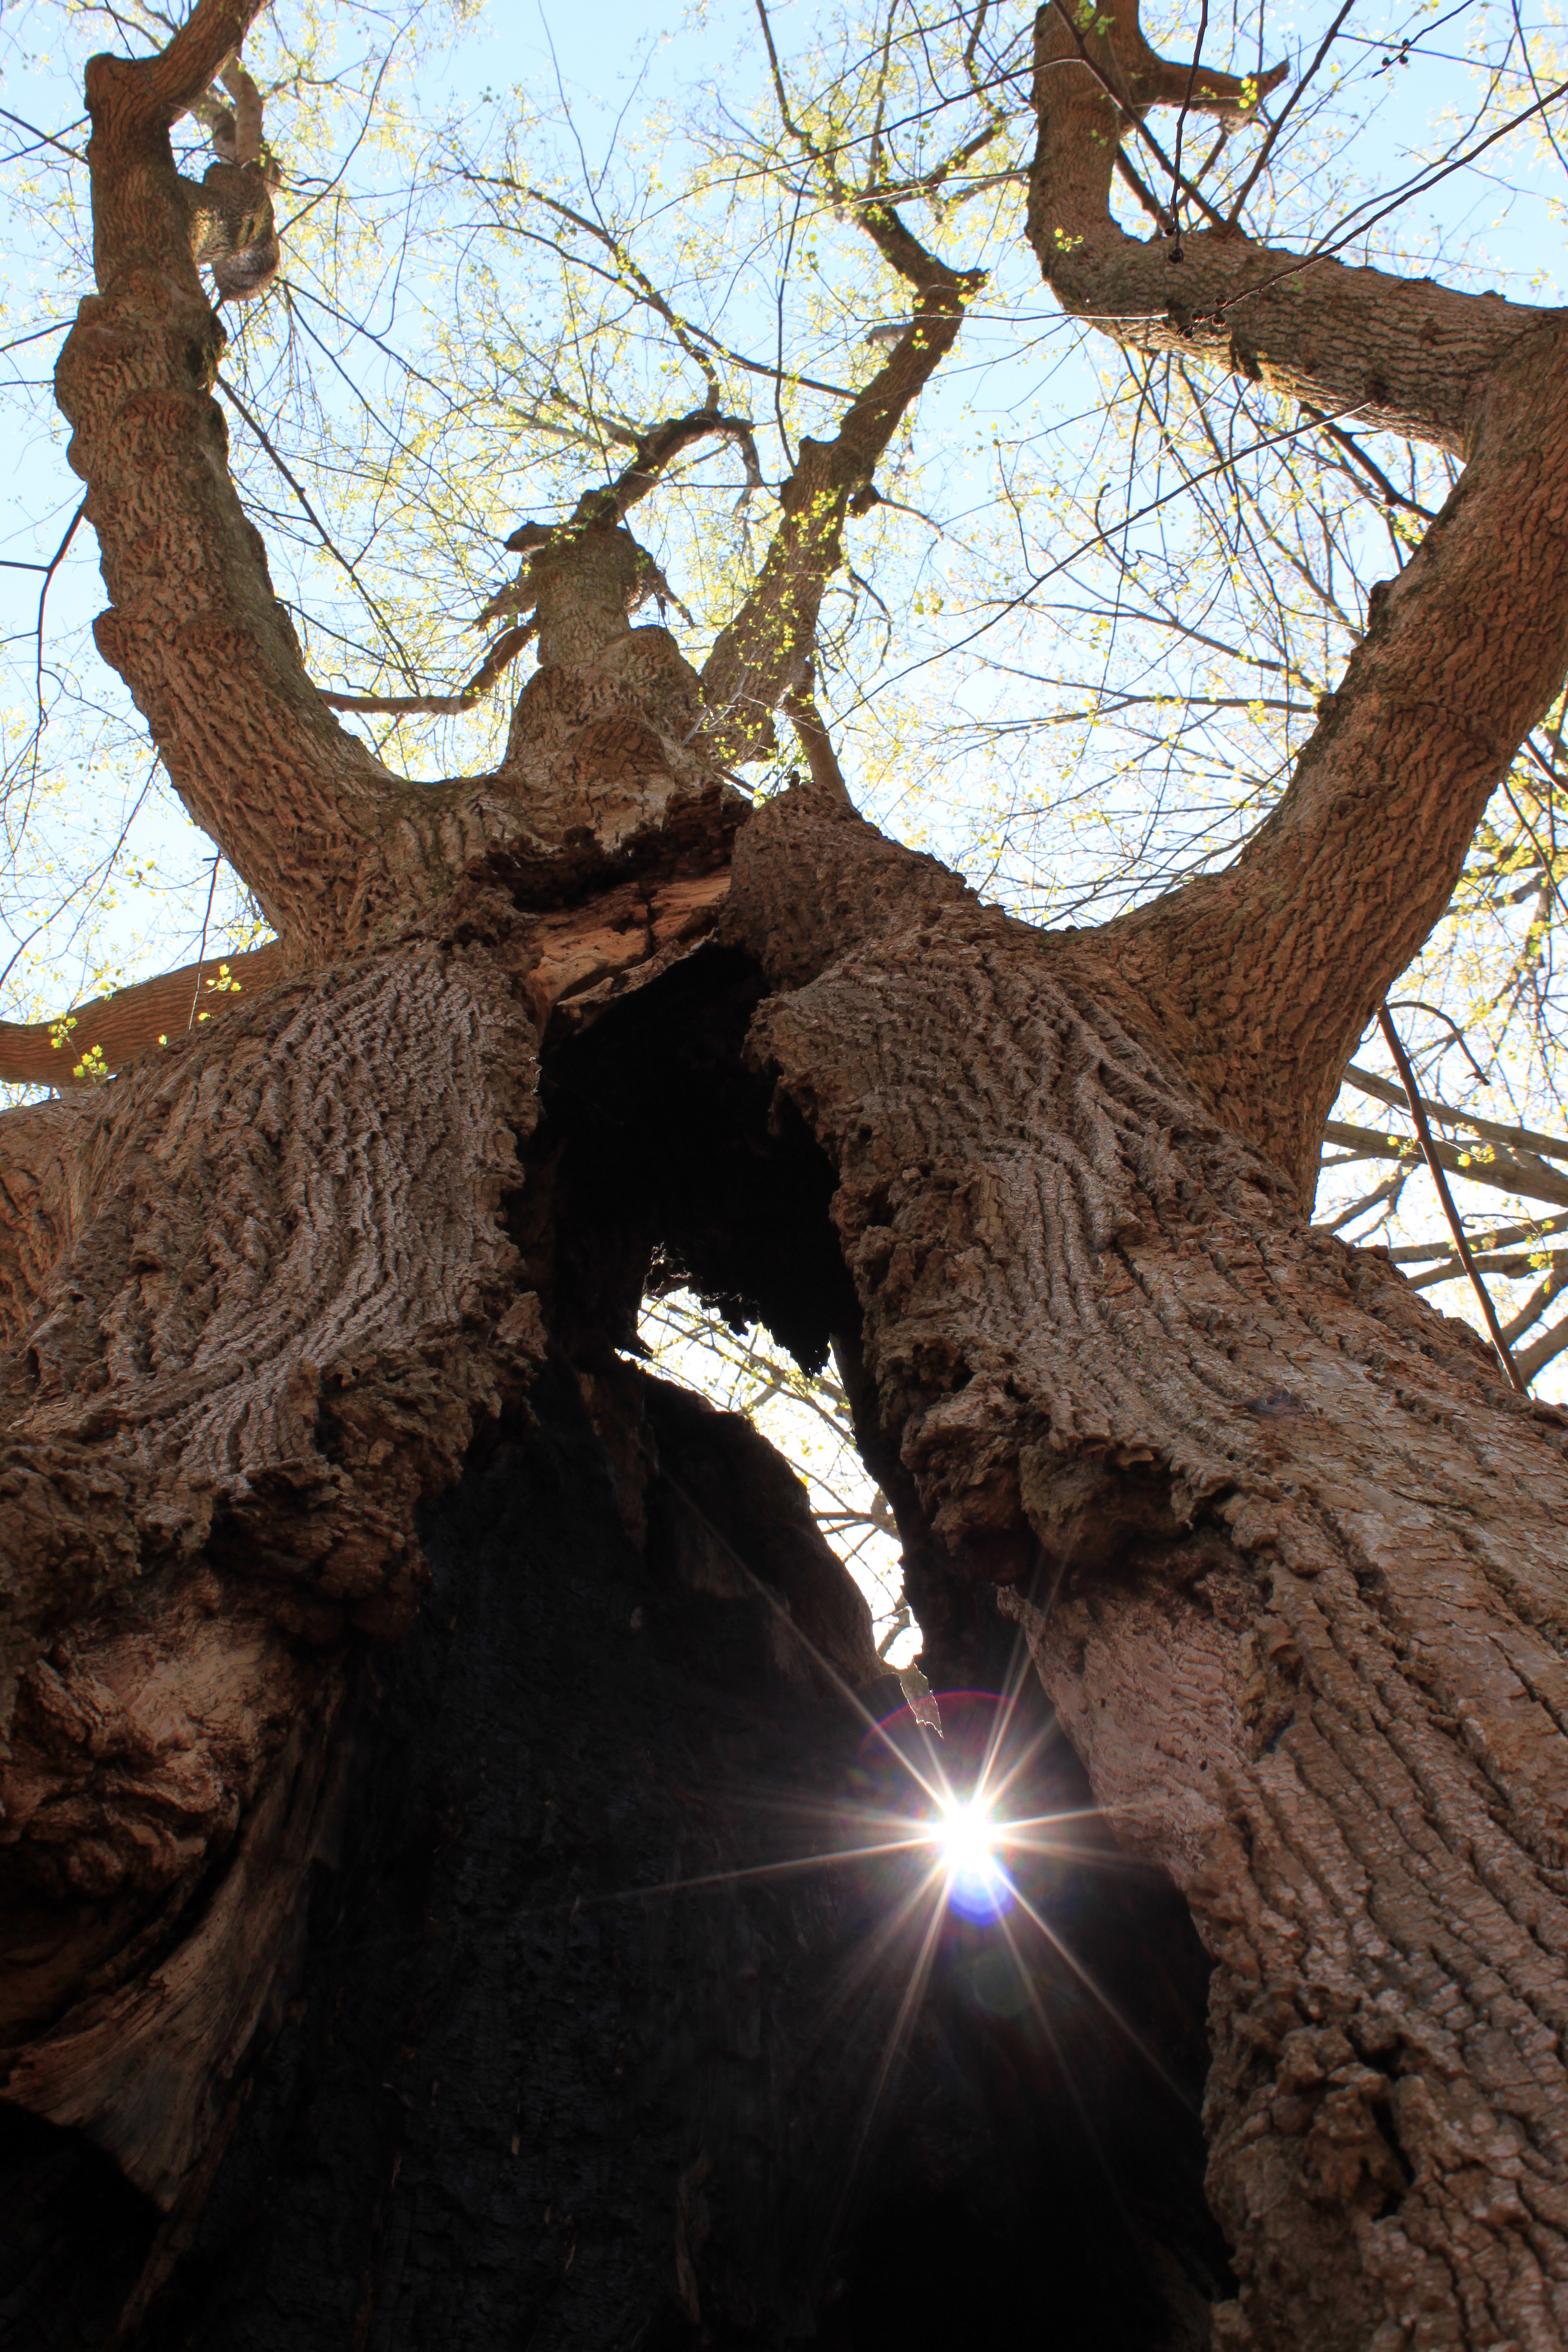
<svg viewBox="0 0 1568 2352">
<path fill-rule="evenodd" d="M 1568 668 L 1568 327 L 1490 383 L 1472 461 L 1237 863 L 1110 927 L 1227 1120 L 1312 1195 L 1356 1037 L 1443 915 Z"/>
</svg>

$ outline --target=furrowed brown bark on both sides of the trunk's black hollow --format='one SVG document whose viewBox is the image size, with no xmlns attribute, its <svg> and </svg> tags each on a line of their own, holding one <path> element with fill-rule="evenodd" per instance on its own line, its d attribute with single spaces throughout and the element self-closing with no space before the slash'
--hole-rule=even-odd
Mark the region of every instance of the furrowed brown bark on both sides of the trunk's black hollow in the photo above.
<svg viewBox="0 0 1568 2352">
<path fill-rule="evenodd" d="M 195 2227 L 331 1867 L 360 1644 L 409 1623 L 411 1508 L 522 1409 L 548 1324 L 632 1545 L 750 1606 L 741 1552 L 790 1602 L 780 1672 L 802 1628 L 870 1672 L 832 1576 L 748 1529 L 766 1475 L 705 1468 L 691 1409 L 628 1402 L 592 1352 L 658 1230 L 766 1303 L 785 1230 L 757 1188 L 785 1152 L 799 1192 L 797 1120 L 837 1183 L 856 1296 L 823 1275 L 820 1312 L 860 1362 L 929 1658 L 994 1672 L 976 1604 L 1004 1595 L 1117 1837 L 1215 1964 L 1222 2336 L 1382 2352 L 1415 2312 L 1432 2343 L 1554 2343 L 1559 1416 L 1305 1230 L 1288 1176 L 1150 1042 L 1114 943 L 1009 924 L 813 790 L 755 816 L 722 882 L 670 884 L 663 913 L 649 884 L 550 917 L 477 894 L 461 948 L 282 983 L 167 1070 L 16 1115 L 40 1207 L 16 1244 L 5 2096 Z M 741 1025 L 708 1049 L 724 990 Z M 522 1047 L 550 1021 L 534 1129 Z M 717 1122 L 689 1164 L 646 1124 L 661 1094 Z M 731 1115 L 757 1124 L 682 1216 Z M 764 1519 L 783 1536 L 788 1503 Z"/>
</svg>

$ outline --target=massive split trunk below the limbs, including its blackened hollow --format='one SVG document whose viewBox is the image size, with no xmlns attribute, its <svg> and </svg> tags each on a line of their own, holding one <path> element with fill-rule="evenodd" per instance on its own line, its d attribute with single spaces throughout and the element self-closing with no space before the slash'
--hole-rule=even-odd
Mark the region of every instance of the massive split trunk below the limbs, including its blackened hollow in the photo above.
<svg viewBox="0 0 1568 2352">
<path fill-rule="evenodd" d="M 1309 1232 L 1103 941 L 813 790 L 729 889 L 663 891 L 550 917 L 555 964 L 484 901 L 484 946 L 284 985 L 45 1120 L 40 1152 L 92 1141 L 16 1258 L 12 1510 L 52 1581 L 7 2098 L 75 2136 L 28 2277 L 99 2211 L 80 2138 L 146 2197 L 80 2284 L 127 2343 L 870 2345 L 912 2241 L 1023 2317 L 1041 2213 L 1053 2260 L 1098 2249 L 1086 2343 L 1197 2343 L 1211 2296 L 1229 2343 L 1556 2343 L 1561 1416 Z M 976 2009 L 950 1922 L 858 2164 L 903 1882 L 649 1893 L 853 1842 L 844 1693 L 896 1700 L 759 1442 L 618 1364 L 654 1251 L 837 1341 L 931 1679 L 999 1686 L 1023 1628 L 1140 1865 L 1046 1912 L 1105 2009 L 1044 1950 L 1023 2023 Z M 1229 2281 L 1143 2056 L 1192 2082 L 1199 1947 Z"/>
</svg>

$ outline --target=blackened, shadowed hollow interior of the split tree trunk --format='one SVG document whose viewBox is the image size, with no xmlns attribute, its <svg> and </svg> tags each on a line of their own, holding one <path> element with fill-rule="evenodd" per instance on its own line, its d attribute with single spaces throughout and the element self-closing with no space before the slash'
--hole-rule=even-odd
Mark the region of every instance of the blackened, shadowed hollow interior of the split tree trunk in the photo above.
<svg viewBox="0 0 1568 2352">
<path fill-rule="evenodd" d="M 1018 1865 L 1048 1933 L 912 1907 L 926 1858 L 844 1858 L 929 1813 L 870 1731 L 898 1684 L 860 1712 L 780 1653 L 755 1435 L 616 1359 L 649 1265 L 806 1362 L 858 1329 L 832 1169 L 741 1056 L 759 983 L 703 962 L 550 1065 L 520 1240 L 562 1352 L 428 1510 L 414 1635 L 357 1670 L 303 1971 L 200 2180 L 158 2216 L 7 2117 L 7 2352 L 1154 2352 L 1232 2291 L 1185 1905 L 1098 1823 Z M 752 1581 L 693 1583 L 693 1494 Z M 964 1623 L 1001 1689 L 1011 1628 Z M 954 1776 L 985 1710 L 950 1708 Z M 1011 1816 L 1091 1804 L 1032 1675 L 1013 1745 Z"/>
</svg>

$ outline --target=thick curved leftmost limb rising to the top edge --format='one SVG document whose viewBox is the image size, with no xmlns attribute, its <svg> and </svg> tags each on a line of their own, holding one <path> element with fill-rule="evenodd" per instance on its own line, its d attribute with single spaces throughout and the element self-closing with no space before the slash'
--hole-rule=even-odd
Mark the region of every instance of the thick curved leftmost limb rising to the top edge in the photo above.
<svg viewBox="0 0 1568 2352">
<path fill-rule="evenodd" d="M 252 14 L 202 0 L 162 56 L 92 59 L 99 294 L 61 350 L 56 397 L 110 595 L 99 652 L 127 680 L 195 823 L 280 934 L 308 946 L 339 929 L 397 786 L 306 675 L 212 400 L 223 329 L 195 263 L 202 191 L 174 169 L 169 125 Z M 247 169 L 261 183 L 256 167 L 214 167 Z"/>
</svg>

